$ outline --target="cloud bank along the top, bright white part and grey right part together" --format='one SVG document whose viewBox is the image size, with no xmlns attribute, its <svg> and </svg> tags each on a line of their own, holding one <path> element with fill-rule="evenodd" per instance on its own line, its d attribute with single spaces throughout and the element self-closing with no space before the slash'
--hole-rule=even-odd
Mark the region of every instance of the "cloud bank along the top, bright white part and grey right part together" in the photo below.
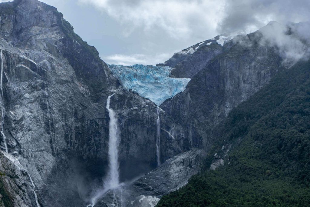
<svg viewBox="0 0 310 207">
<path fill-rule="evenodd" d="M 161 28 L 179 39 L 197 34 L 253 32 L 269 21 L 306 21 L 309 0 L 78 0 L 122 22 L 124 34 L 135 28 Z M 210 37 L 206 37 L 210 38 Z"/>
</svg>

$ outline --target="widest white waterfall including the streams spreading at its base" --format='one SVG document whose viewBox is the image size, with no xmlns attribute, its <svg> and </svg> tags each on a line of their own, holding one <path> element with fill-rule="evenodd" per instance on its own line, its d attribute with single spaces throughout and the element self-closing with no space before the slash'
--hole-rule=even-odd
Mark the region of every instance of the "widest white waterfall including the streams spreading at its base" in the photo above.
<svg viewBox="0 0 310 207">
<path fill-rule="evenodd" d="M 109 142 L 108 142 L 108 157 L 109 157 L 109 171 L 108 175 L 104 180 L 104 189 L 99 191 L 96 196 L 91 199 L 92 204 L 87 206 L 94 206 L 97 200 L 104 196 L 109 190 L 113 189 L 113 205 L 117 205 L 117 200 L 115 196 L 115 190 L 120 187 L 119 183 L 119 163 L 118 163 L 118 145 L 119 138 L 117 135 L 117 117 L 113 109 L 110 107 L 111 97 L 114 95 L 108 96 L 107 99 L 107 110 L 109 112 Z M 114 204 L 114 202 L 116 202 Z"/>
</svg>

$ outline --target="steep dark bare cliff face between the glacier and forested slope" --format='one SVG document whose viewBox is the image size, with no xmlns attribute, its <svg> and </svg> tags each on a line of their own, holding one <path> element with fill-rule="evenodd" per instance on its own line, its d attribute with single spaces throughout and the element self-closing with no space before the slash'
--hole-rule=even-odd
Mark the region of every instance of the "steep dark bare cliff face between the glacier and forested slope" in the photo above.
<svg viewBox="0 0 310 207">
<path fill-rule="evenodd" d="M 277 48 L 259 44 L 261 37 L 256 32 L 228 41 L 222 54 L 206 60 L 184 92 L 162 103 L 162 109 L 183 126 L 190 146 L 212 144 L 210 129 L 268 83 L 281 66 Z"/>
</svg>

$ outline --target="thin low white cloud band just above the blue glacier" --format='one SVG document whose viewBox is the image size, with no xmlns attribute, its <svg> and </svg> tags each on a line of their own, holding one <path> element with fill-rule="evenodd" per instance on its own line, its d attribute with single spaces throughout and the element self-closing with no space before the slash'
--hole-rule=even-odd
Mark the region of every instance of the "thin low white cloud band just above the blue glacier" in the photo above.
<svg viewBox="0 0 310 207">
<path fill-rule="evenodd" d="M 145 55 L 145 54 L 133 54 L 133 55 L 124 55 L 124 54 L 114 54 L 111 56 L 104 57 L 104 60 L 109 64 L 115 65 L 156 65 L 170 58 L 169 53 L 156 54 L 156 55 Z"/>
</svg>

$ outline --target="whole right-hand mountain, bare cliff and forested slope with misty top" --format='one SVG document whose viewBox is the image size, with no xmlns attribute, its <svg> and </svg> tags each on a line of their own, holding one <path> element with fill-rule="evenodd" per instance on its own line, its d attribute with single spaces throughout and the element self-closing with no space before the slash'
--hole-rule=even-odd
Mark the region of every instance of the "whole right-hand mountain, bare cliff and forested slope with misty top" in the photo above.
<svg viewBox="0 0 310 207">
<path fill-rule="evenodd" d="M 207 155 L 203 170 L 157 206 L 309 205 L 309 39 L 301 28 L 309 25 L 270 22 L 234 37 L 161 105 L 195 126 L 188 136 L 200 136 L 192 143 Z"/>
</svg>

